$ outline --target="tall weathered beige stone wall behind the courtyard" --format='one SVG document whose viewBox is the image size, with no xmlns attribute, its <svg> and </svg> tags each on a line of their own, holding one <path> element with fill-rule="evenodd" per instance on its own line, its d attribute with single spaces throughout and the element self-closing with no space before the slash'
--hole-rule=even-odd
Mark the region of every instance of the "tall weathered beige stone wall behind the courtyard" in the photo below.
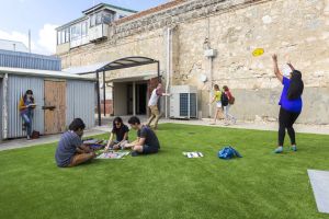
<svg viewBox="0 0 329 219">
<path fill-rule="evenodd" d="M 172 28 L 167 69 L 167 28 Z M 61 55 L 64 68 L 146 56 L 161 62 L 172 84 L 196 85 L 198 108 L 208 116 L 213 83 L 227 84 L 237 97 L 232 112 L 241 119 L 275 120 L 282 85 L 273 76 L 271 55 L 280 65 L 291 60 L 303 72 L 304 111 L 300 123 L 329 123 L 329 1 L 328 0 L 191 0 L 111 26 L 110 39 Z M 211 60 L 205 48 L 217 49 Z M 254 48 L 264 55 L 253 57 Z M 110 78 L 156 71 L 146 66 L 112 72 Z M 201 74 L 208 81 L 203 83 Z"/>
</svg>

